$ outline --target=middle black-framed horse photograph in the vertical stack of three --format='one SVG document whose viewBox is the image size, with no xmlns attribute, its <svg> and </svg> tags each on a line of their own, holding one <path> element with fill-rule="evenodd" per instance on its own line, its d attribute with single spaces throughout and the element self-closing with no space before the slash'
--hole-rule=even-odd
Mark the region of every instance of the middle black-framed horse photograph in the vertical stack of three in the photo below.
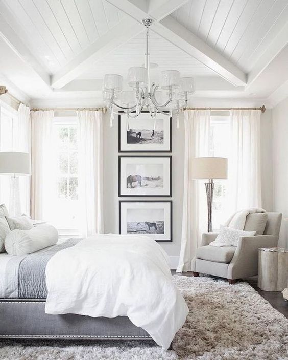
<svg viewBox="0 0 288 360">
<path fill-rule="evenodd" d="M 119 196 L 172 196 L 172 156 L 119 156 Z"/>
</svg>

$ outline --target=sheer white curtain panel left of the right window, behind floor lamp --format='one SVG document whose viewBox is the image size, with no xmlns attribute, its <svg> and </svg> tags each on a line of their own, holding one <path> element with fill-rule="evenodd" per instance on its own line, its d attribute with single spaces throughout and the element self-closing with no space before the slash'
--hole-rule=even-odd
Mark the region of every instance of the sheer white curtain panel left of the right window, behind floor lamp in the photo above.
<svg viewBox="0 0 288 360">
<path fill-rule="evenodd" d="M 205 186 L 193 180 L 191 159 L 209 156 L 210 110 L 184 111 L 185 155 L 181 251 L 177 272 L 191 271 L 205 224 Z"/>
</svg>

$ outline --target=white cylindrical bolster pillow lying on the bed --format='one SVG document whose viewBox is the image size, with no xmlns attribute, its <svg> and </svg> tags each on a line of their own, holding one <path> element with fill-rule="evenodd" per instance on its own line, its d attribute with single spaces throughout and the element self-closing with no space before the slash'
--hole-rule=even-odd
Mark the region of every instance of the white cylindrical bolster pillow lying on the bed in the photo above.
<svg viewBox="0 0 288 360">
<path fill-rule="evenodd" d="M 5 238 L 9 255 L 25 255 L 56 244 L 58 231 L 52 225 L 38 225 L 30 230 L 13 230 Z"/>
</svg>

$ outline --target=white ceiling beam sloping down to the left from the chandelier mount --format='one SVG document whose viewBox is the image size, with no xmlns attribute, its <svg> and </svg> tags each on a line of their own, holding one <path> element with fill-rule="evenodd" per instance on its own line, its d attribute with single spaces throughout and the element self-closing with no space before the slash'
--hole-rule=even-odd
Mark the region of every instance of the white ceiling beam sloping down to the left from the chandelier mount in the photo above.
<svg viewBox="0 0 288 360">
<path fill-rule="evenodd" d="M 85 70 L 95 66 L 95 62 L 119 45 L 143 30 L 143 26 L 130 17 L 123 18 L 106 34 L 98 38 L 88 48 L 76 56 L 51 78 L 53 88 L 62 88 L 68 82 L 81 75 Z"/>
</svg>

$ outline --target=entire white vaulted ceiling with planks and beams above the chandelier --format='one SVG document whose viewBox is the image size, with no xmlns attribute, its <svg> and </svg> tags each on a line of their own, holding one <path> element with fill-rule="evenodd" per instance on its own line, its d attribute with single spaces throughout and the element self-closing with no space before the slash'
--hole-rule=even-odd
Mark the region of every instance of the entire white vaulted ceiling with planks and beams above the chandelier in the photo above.
<svg viewBox="0 0 288 360">
<path fill-rule="evenodd" d="M 1 0 L 0 82 L 13 95 L 91 98 L 102 104 L 105 73 L 124 77 L 151 61 L 195 78 L 197 98 L 288 95 L 286 0 Z"/>
</svg>

